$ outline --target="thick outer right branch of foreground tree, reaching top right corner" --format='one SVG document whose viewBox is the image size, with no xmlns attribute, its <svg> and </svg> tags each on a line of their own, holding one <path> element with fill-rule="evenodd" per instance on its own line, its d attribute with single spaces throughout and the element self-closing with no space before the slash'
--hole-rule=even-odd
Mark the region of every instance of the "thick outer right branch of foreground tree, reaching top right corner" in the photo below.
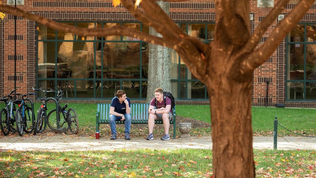
<svg viewBox="0 0 316 178">
<path fill-rule="evenodd" d="M 250 54 L 240 66 L 240 73 L 250 74 L 264 63 L 275 51 L 280 42 L 295 25 L 300 22 L 314 0 L 301 0 L 296 7 L 273 30 L 267 41 L 257 51 Z"/>
</svg>

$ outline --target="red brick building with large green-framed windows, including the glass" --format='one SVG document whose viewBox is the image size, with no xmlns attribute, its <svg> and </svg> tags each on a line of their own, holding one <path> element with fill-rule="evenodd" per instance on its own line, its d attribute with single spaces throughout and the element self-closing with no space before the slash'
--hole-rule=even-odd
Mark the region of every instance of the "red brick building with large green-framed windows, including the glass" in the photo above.
<svg viewBox="0 0 316 178">
<path fill-rule="evenodd" d="M 11 0 L 1 2 L 12 3 Z M 261 2 L 250 1 L 252 33 L 273 7 L 273 1 L 270 4 Z M 296 3 L 289 2 L 258 46 Z M 78 27 L 122 25 L 149 31 L 148 26 L 122 6 L 114 8 L 112 0 L 19 0 L 17 4 L 22 10 Z M 269 106 L 280 103 L 288 107 L 316 107 L 315 9 L 313 4 L 275 53 L 255 70 L 253 105 L 266 105 L 266 82 L 269 81 Z M 216 18 L 214 1 L 170 3 L 170 17 L 189 35 L 205 43 L 212 41 Z M 0 95 L 9 93 L 15 86 L 14 27 L 12 15 L 0 22 Z M 17 17 L 16 27 L 18 92 L 32 92 L 33 86 L 57 87 L 65 92 L 64 99 L 98 102 L 110 100 L 116 90 L 123 89 L 131 99 L 146 99 L 149 51 L 146 42 L 126 36 L 78 36 L 58 32 L 21 17 Z M 124 69 L 120 69 L 122 67 Z M 176 100 L 181 103 L 208 103 L 204 84 L 191 75 L 174 51 L 171 51 L 170 71 L 172 93 Z"/>
</svg>

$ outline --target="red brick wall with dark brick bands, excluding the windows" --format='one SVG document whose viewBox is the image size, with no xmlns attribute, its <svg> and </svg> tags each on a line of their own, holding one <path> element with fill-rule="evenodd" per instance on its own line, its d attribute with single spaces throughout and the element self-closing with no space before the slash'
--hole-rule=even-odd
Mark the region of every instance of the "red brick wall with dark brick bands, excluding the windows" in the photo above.
<svg viewBox="0 0 316 178">
<path fill-rule="evenodd" d="M 6 0 L 1 0 L 6 4 Z M 298 1 L 290 1 L 289 5 L 283 11 L 287 14 L 295 7 Z M 257 1 L 250 3 L 251 33 L 257 28 L 258 24 L 264 20 L 264 17 L 272 8 L 258 8 Z M 66 0 L 25 0 L 24 6 L 18 6 L 23 10 L 51 18 L 53 20 L 63 21 L 137 21 L 122 6 L 114 8 L 112 0 L 87 0 L 87 1 L 66 1 Z M 275 1 L 276 4 L 276 1 Z M 193 0 L 189 2 L 170 3 L 170 16 L 176 22 L 215 22 L 215 2 Z M 302 19 L 301 22 L 315 22 L 316 4 Z M 276 21 L 269 27 L 262 37 L 257 48 L 260 48 L 267 40 L 273 29 L 279 21 Z M 19 92 L 31 92 L 32 86 L 36 83 L 36 25 L 33 21 L 17 17 L 17 81 Z M 14 17 L 8 15 L 4 22 L 0 22 L 0 95 L 10 92 L 14 88 Z M 5 46 L 3 46 L 5 44 Z M 274 54 L 253 73 L 253 96 L 252 104 L 255 106 L 264 106 L 266 98 L 266 81 L 269 80 L 268 100 L 269 106 L 275 106 L 276 103 L 285 102 L 285 42 L 283 41 Z M 87 102 L 87 101 L 84 101 Z M 93 101 L 94 102 L 94 101 Z M 98 101 L 95 101 L 98 102 Z M 204 103 L 208 101 L 192 101 L 191 104 Z M 310 102 L 286 102 L 286 106 L 296 107 L 316 107 Z"/>
</svg>

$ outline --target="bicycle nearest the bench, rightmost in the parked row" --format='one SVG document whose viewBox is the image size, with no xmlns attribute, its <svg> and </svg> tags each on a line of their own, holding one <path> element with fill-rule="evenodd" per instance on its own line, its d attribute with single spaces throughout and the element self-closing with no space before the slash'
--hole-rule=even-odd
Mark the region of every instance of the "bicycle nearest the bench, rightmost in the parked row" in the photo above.
<svg viewBox="0 0 316 178">
<path fill-rule="evenodd" d="M 72 134 L 77 134 L 79 131 L 78 115 L 73 108 L 69 108 L 67 110 L 68 103 L 65 104 L 64 107 L 61 107 L 59 100 L 62 99 L 64 92 L 62 90 L 58 90 L 58 92 L 58 115 L 56 109 L 50 111 L 47 115 L 47 125 L 50 129 L 52 129 L 55 132 L 57 132 L 58 130 L 62 130 L 62 132 L 65 133 L 69 129 Z M 55 115 L 52 115 L 52 113 L 56 113 L 56 117 Z M 60 114 L 63 114 L 64 119 L 60 117 Z M 67 126 L 64 126 L 64 124 L 66 123 Z"/>
</svg>

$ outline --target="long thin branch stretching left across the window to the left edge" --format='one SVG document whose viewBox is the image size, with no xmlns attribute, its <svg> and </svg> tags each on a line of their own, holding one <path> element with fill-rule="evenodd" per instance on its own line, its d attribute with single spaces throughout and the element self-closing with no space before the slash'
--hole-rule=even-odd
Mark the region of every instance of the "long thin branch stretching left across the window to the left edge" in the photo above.
<svg viewBox="0 0 316 178">
<path fill-rule="evenodd" d="M 130 36 L 133 38 L 137 38 L 139 40 L 146 41 L 149 43 L 153 43 L 153 44 L 157 44 L 161 46 L 167 46 L 169 48 L 173 48 L 174 46 L 172 42 L 164 38 L 152 36 L 147 33 L 143 33 L 141 31 L 129 29 L 126 27 L 115 26 L 115 27 L 107 28 L 107 29 L 87 29 L 87 28 L 74 27 L 71 25 L 63 24 L 63 23 L 58 23 L 53 20 L 47 19 L 45 17 L 38 16 L 32 13 L 26 12 L 24 10 L 20 10 L 18 8 L 10 7 L 7 5 L 0 5 L 0 10 L 9 14 L 15 15 L 15 16 L 21 16 L 29 20 L 39 22 L 49 28 L 52 28 L 58 31 L 73 33 L 76 35 L 100 36 L 100 37 L 109 36 L 109 35 L 125 35 L 125 36 Z"/>
</svg>

